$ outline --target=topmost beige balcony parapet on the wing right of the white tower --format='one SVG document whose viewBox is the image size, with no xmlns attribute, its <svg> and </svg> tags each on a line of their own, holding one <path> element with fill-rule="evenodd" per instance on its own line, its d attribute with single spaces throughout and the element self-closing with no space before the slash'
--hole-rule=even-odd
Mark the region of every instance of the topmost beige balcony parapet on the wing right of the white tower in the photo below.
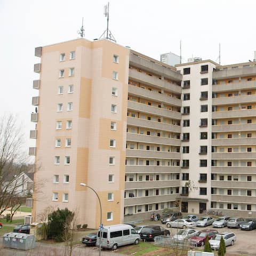
<svg viewBox="0 0 256 256">
<path fill-rule="evenodd" d="M 225 68 L 223 70 L 215 70 L 212 73 L 213 79 L 229 79 L 234 77 L 255 76 L 256 67 L 238 67 Z"/>
</svg>

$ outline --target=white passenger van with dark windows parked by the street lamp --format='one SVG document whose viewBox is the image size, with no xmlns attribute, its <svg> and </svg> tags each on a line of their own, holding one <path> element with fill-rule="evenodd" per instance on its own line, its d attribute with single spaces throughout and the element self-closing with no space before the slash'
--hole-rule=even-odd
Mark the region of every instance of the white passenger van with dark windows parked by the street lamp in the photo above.
<svg viewBox="0 0 256 256">
<path fill-rule="evenodd" d="M 118 246 L 126 244 L 138 244 L 140 235 L 134 228 L 126 224 L 106 226 L 102 228 L 101 247 L 116 250 Z M 100 243 L 100 229 L 98 230 L 97 243 Z"/>
</svg>

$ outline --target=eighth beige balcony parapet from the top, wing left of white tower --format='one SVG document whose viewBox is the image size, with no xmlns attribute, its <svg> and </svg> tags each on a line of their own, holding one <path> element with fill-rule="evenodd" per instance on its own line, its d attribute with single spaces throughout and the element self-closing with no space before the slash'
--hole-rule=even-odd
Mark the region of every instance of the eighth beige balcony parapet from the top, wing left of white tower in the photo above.
<svg viewBox="0 0 256 256">
<path fill-rule="evenodd" d="M 179 173 L 180 166 L 126 165 L 125 173 Z"/>
</svg>

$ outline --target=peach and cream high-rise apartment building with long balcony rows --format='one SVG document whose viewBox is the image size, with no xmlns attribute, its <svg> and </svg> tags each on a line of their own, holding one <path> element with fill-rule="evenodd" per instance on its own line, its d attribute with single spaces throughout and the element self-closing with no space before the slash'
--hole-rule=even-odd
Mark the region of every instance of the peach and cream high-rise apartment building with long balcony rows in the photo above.
<svg viewBox="0 0 256 256">
<path fill-rule="evenodd" d="M 100 197 L 103 225 L 165 208 L 256 217 L 255 62 L 172 67 L 84 38 L 35 55 L 33 221 L 67 207 L 98 227 L 98 198 L 82 182 Z"/>
</svg>

